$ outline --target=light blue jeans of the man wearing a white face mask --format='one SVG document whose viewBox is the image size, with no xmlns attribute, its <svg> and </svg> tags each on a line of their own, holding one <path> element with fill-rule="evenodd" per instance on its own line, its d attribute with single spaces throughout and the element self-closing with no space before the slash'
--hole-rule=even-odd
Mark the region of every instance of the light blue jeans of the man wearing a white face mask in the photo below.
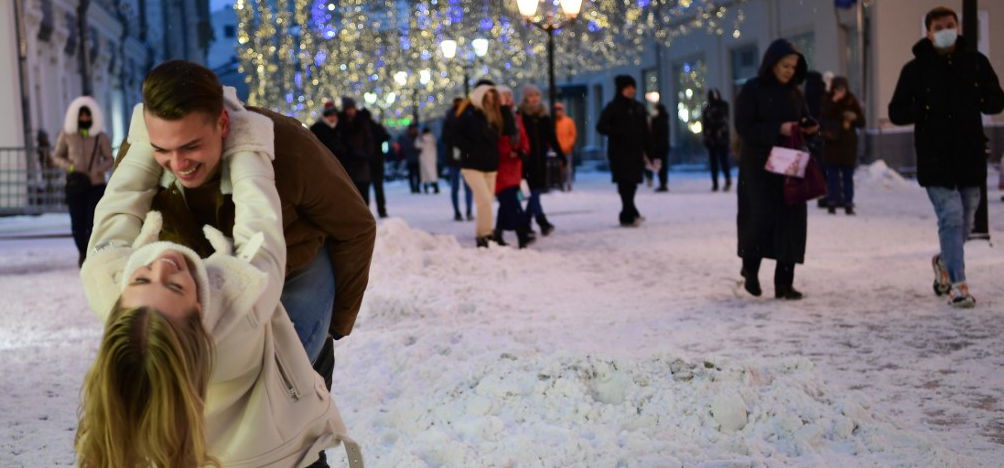
<svg viewBox="0 0 1004 468">
<path fill-rule="evenodd" d="M 953 284 L 963 282 L 966 280 L 963 245 L 973 231 L 976 207 L 980 204 L 980 188 L 928 187 L 928 198 L 938 215 L 938 240 L 949 279 Z"/>
</svg>

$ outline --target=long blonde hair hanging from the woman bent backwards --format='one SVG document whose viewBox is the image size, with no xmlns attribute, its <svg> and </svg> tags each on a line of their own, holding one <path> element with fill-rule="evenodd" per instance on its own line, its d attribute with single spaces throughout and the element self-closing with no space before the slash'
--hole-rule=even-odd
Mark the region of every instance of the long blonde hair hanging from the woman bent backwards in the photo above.
<svg viewBox="0 0 1004 468">
<path fill-rule="evenodd" d="M 81 389 L 77 464 L 220 467 L 208 453 L 203 419 L 212 361 L 197 309 L 172 320 L 116 302 Z"/>
</svg>

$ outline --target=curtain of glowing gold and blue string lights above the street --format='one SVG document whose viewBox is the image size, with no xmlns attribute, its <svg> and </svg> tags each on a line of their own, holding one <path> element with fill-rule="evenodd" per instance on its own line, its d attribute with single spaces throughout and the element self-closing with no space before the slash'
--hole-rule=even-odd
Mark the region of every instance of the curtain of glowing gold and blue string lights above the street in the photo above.
<svg viewBox="0 0 1004 468">
<path fill-rule="evenodd" d="M 555 31 L 555 70 L 639 64 L 648 41 L 670 45 L 693 30 L 738 37 L 745 17 L 735 7 L 744 1 L 585 1 L 577 20 Z M 534 20 L 562 17 L 554 3 L 543 2 Z M 249 102 L 301 121 L 342 95 L 374 96 L 366 106 L 385 119 L 416 105 L 438 116 L 461 94 L 464 67 L 472 80 L 513 87 L 547 76 L 546 34 L 525 24 L 514 0 L 237 0 L 234 9 Z M 489 39 L 481 58 L 478 37 Z M 457 41 L 454 59 L 443 56 L 445 39 Z"/>
</svg>

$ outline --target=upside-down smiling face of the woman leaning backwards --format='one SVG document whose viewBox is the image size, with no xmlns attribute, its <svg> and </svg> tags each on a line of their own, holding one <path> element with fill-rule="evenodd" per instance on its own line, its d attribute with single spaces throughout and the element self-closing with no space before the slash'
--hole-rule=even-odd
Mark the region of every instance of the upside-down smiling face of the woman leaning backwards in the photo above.
<svg viewBox="0 0 1004 468">
<path fill-rule="evenodd" d="M 153 307 L 172 319 L 200 310 L 199 291 L 192 266 L 181 252 L 165 250 L 129 278 L 122 290 L 123 307 Z"/>
</svg>

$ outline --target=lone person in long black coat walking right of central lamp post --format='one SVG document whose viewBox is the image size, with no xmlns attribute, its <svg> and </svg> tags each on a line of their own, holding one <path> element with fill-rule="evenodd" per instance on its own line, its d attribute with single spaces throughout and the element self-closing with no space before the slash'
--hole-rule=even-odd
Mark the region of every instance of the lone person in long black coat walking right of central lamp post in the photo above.
<svg viewBox="0 0 1004 468">
<path fill-rule="evenodd" d="M 645 105 L 635 100 L 638 91 L 635 78 L 621 74 L 613 78 L 613 83 L 616 95 L 600 112 L 596 132 L 607 138 L 606 157 L 611 178 L 620 194 L 620 225 L 638 227 L 645 218 L 635 206 L 635 194 L 642 183 L 648 155 L 652 153 L 652 138 Z"/>
</svg>

